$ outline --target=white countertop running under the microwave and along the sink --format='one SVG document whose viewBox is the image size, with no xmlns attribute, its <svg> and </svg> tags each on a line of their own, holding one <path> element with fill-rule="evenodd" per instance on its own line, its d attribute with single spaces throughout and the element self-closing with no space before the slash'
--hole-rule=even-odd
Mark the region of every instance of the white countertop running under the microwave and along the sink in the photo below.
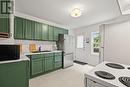
<svg viewBox="0 0 130 87">
<path fill-rule="evenodd" d="M 11 63 L 11 62 L 19 62 L 19 61 L 25 61 L 25 60 L 30 61 L 30 59 L 26 55 L 36 55 L 36 54 L 46 54 L 46 53 L 56 53 L 56 52 L 62 52 L 62 51 L 55 50 L 55 51 L 51 51 L 51 52 L 24 53 L 24 54 L 21 54 L 20 59 L 18 59 L 18 60 L 0 61 L 0 64 Z"/>
</svg>

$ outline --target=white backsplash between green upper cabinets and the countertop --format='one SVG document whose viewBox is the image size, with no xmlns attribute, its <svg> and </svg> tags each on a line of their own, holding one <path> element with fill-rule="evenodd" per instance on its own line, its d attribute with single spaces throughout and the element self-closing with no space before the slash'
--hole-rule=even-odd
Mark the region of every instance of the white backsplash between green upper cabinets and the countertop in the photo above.
<svg viewBox="0 0 130 87">
<path fill-rule="evenodd" d="M 33 41 L 33 40 L 14 40 L 11 38 L 0 38 L 0 44 L 20 44 L 22 45 L 21 52 L 29 53 L 29 44 L 35 44 L 36 50 L 41 46 L 41 50 L 56 50 L 56 42 L 52 41 Z"/>
</svg>

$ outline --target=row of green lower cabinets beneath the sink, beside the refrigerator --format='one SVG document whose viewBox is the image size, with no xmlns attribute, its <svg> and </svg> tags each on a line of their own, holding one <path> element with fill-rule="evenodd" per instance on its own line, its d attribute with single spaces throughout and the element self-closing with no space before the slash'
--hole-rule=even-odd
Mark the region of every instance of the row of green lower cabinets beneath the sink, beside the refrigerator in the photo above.
<svg viewBox="0 0 130 87">
<path fill-rule="evenodd" d="M 30 58 L 31 78 L 62 68 L 62 52 L 36 54 L 28 57 Z"/>
</svg>

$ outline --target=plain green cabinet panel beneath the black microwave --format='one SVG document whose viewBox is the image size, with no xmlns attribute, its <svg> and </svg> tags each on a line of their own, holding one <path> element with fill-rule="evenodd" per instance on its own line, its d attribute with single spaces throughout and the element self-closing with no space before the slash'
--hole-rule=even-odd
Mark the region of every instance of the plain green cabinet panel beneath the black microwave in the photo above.
<svg viewBox="0 0 130 87">
<path fill-rule="evenodd" d="M 0 64 L 0 87 L 29 87 L 29 61 Z"/>
</svg>

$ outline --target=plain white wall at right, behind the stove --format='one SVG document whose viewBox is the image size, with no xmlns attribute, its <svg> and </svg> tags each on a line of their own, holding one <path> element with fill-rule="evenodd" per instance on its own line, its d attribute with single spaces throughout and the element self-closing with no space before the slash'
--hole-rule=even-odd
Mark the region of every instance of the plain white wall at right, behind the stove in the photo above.
<svg viewBox="0 0 130 87">
<path fill-rule="evenodd" d="M 105 28 L 104 60 L 130 65 L 130 21 Z"/>
</svg>

